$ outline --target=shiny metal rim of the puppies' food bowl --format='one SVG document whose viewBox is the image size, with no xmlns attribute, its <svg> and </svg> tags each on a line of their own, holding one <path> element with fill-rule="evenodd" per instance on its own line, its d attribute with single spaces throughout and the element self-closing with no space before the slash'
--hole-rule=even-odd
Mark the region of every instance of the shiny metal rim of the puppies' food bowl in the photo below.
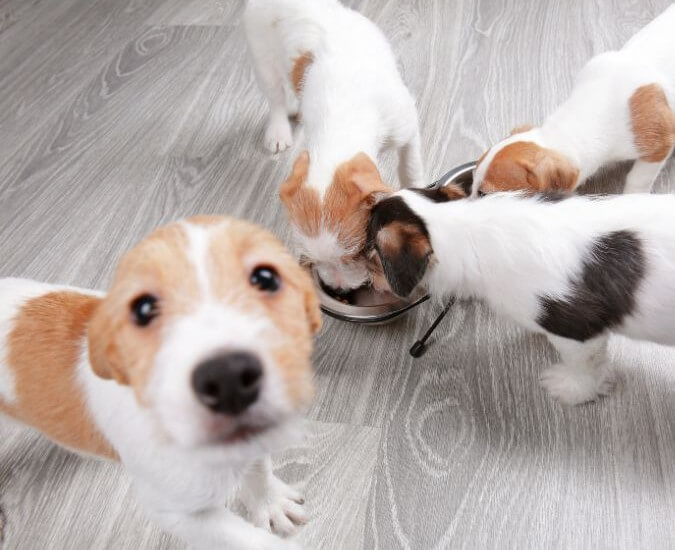
<svg viewBox="0 0 675 550">
<path fill-rule="evenodd" d="M 428 185 L 427 189 L 437 189 L 443 187 L 448 183 L 459 179 L 465 174 L 472 172 L 476 167 L 476 162 L 465 162 L 448 170 L 440 178 Z M 350 304 L 343 304 L 327 294 L 319 284 L 318 274 L 314 269 L 311 270 L 312 280 L 319 297 L 319 306 L 329 317 L 338 319 L 340 321 L 347 321 L 351 323 L 370 324 L 383 323 L 403 315 L 407 311 L 417 307 L 423 302 L 429 300 L 430 295 L 427 294 L 424 288 L 419 288 L 414 292 L 412 297 L 407 300 L 399 299 L 398 302 L 391 302 L 389 304 L 379 304 L 373 306 L 354 306 Z M 352 310 L 352 311 L 350 311 Z M 355 310 L 355 311 L 354 311 Z"/>
</svg>

